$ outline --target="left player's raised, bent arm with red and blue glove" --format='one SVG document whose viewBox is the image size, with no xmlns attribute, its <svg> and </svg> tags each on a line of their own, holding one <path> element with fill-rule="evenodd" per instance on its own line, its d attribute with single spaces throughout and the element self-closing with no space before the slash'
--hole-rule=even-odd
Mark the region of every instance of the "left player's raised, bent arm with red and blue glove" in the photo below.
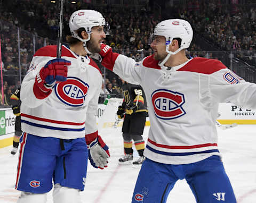
<svg viewBox="0 0 256 203">
<path fill-rule="evenodd" d="M 38 58 L 31 62 L 31 67 L 21 84 L 20 97 L 22 103 L 29 107 L 37 107 L 44 102 L 56 82 L 67 80 L 68 65 L 63 58 L 41 61 Z"/>
</svg>

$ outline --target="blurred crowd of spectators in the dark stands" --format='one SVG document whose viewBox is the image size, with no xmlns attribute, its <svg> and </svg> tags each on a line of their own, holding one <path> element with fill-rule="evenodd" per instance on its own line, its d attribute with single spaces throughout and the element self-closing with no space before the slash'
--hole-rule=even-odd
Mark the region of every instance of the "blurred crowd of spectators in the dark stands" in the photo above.
<svg viewBox="0 0 256 203">
<path fill-rule="evenodd" d="M 188 20 L 195 35 L 204 39 L 215 50 L 234 51 L 234 56 L 254 65 L 256 61 L 256 6 L 222 4 L 222 0 L 187 1 L 187 4 L 174 4 L 167 9 L 168 16 L 154 15 L 150 6 L 113 7 L 81 3 L 66 4 L 63 13 L 63 36 L 69 35 L 68 20 L 73 11 L 93 9 L 101 12 L 110 24 L 106 43 L 115 52 L 140 61 L 153 54 L 148 39 L 156 24 L 167 18 Z M 184 1 L 183 1 L 184 2 Z M 233 1 L 233 3 L 236 0 Z M 2 0 L 0 6 L 0 39 L 2 49 L 2 70 L 4 78 L 4 105 L 28 70 L 34 52 L 45 45 L 54 44 L 58 30 L 58 3 L 43 0 Z M 162 12 L 164 13 L 164 12 Z M 18 33 L 20 28 L 20 61 L 18 56 Z M 64 39 L 63 39 L 64 40 Z M 193 42 L 187 54 L 218 58 L 214 52 L 202 50 L 199 43 Z M 19 66 L 21 69 L 19 70 Z M 103 71 L 103 94 L 121 97 L 122 80 L 109 71 Z M 1 94 L 2 97 L 2 94 Z"/>
</svg>

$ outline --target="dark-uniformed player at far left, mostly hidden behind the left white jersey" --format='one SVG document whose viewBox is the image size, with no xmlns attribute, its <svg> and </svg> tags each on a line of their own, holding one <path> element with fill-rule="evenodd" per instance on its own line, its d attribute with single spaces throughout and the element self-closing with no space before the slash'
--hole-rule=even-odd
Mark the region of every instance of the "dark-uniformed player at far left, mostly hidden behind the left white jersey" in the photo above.
<svg viewBox="0 0 256 203">
<path fill-rule="evenodd" d="M 13 114 L 16 116 L 16 118 L 15 118 L 15 132 L 14 132 L 14 137 L 13 137 L 13 149 L 11 151 L 11 154 L 14 155 L 18 151 L 20 136 L 22 134 L 21 122 L 20 122 L 20 104 L 21 104 L 20 88 L 15 90 L 15 92 L 11 95 L 10 98 L 11 98 Z"/>
</svg>

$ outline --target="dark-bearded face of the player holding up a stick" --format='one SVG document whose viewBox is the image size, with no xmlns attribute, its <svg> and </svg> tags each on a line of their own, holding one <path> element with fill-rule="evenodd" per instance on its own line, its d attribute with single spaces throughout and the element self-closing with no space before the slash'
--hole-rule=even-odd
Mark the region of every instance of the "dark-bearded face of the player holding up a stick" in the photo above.
<svg viewBox="0 0 256 203">
<path fill-rule="evenodd" d="M 91 39 L 87 42 L 87 48 L 92 53 L 99 53 L 101 51 L 100 43 L 106 38 L 103 26 L 96 26 L 92 28 Z"/>
</svg>

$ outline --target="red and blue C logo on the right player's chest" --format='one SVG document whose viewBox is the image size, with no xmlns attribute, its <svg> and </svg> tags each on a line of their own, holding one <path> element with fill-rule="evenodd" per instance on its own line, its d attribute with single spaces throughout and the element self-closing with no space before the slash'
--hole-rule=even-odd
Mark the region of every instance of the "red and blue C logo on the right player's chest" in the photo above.
<svg viewBox="0 0 256 203">
<path fill-rule="evenodd" d="M 158 89 L 151 95 L 151 101 L 155 115 L 159 119 L 177 119 L 186 114 L 182 108 L 182 105 L 185 103 L 185 97 L 179 92 Z"/>
</svg>

